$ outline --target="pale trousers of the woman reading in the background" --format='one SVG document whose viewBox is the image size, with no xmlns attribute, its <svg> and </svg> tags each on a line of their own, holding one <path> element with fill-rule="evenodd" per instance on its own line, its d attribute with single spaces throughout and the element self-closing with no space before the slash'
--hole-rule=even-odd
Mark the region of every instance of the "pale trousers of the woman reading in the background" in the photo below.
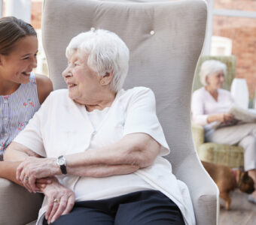
<svg viewBox="0 0 256 225">
<path fill-rule="evenodd" d="M 244 148 L 245 170 L 256 169 L 256 123 L 237 124 L 209 130 L 206 133 L 206 141 L 242 146 Z"/>
</svg>

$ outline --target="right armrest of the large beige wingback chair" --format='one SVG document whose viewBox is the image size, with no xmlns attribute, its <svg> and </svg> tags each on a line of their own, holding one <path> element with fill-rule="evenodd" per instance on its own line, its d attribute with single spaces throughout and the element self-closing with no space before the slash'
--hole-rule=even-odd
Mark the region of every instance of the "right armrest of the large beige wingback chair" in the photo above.
<svg viewBox="0 0 256 225">
<path fill-rule="evenodd" d="M 219 190 L 197 157 L 190 154 L 178 169 L 178 176 L 187 184 L 196 214 L 197 225 L 216 225 L 219 216 Z M 187 172 L 190 175 L 187 176 Z"/>
</svg>

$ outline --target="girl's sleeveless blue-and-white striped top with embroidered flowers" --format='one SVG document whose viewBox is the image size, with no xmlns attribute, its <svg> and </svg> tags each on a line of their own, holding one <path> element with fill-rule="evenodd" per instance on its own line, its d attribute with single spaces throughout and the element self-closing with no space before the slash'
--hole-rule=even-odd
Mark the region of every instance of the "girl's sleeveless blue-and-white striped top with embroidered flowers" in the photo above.
<svg viewBox="0 0 256 225">
<path fill-rule="evenodd" d="M 0 95 L 0 160 L 7 146 L 39 109 L 35 74 L 11 95 Z"/>
</svg>

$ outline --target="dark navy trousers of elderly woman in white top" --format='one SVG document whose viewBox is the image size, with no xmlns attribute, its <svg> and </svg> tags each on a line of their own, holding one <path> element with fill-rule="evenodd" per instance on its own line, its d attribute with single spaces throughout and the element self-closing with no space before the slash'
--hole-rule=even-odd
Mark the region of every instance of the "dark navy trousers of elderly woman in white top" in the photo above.
<svg viewBox="0 0 256 225">
<path fill-rule="evenodd" d="M 44 225 L 47 220 L 44 219 Z M 178 206 L 157 190 L 143 190 L 111 199 L 76 202 L 54 225 L 184 225 Z"/>
</svg>

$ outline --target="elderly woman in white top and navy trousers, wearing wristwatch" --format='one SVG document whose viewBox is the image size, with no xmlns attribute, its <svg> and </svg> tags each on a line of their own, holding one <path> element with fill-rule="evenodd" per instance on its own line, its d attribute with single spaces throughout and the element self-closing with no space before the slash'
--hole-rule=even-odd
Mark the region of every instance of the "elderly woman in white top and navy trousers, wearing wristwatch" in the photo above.
<svg viewBox="0 0 256 225">
<path fill-rule="evenodd" d="M 5 153 L 23 160 L 24 186 L 46 196 L 37 224 L 195 224 L 187 187 L 163 158 L 169 147 L 154 93 L 122 89 L 126 44 L 110 31 L 88 31 L 66 56 L 68 90 L 52 92 Z M 38 178 L 52 184 L 38 187 Z"/>
</svg>

